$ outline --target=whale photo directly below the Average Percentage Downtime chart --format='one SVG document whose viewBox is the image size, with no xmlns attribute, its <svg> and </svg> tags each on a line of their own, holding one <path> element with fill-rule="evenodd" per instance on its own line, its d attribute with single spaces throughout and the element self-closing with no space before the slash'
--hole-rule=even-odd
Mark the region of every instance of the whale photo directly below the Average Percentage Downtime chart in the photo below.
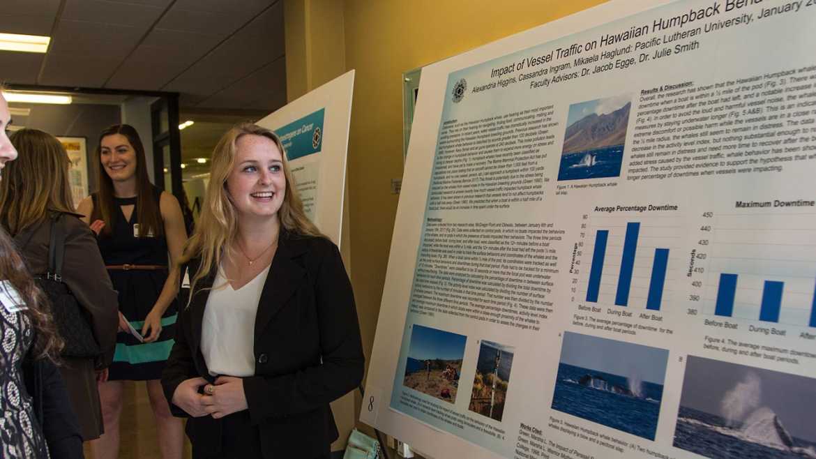
<svg viewBox="0 0 816 459">
<path fill-rule="evenodd" d="M 654 440 L 668 351 L 565 332 L 552 409 Z"/>
</svg>

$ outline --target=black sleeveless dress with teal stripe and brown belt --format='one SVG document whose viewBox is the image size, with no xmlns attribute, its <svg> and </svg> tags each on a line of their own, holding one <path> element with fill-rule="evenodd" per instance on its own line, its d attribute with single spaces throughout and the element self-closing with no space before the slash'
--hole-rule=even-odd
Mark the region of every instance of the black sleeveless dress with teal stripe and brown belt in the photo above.
<svg viewBox="0 0 816 459">
<path fill-rule="evenodd" d="M 152 187 L 156 207 L 162 191 Z M 97 203 L 93 196 L 94 205 Z M 135 232 L 139 215 L 136 198 L 113 198 L 116 219 L 111 234 L 100 234 L 100 252 L 105 265 L 168 265 L 167 240 L 162 234 Z M 131 220 L 125 219 L 122 206 L 134 206 Z M 138 226 L 137 226 L 138 228 Z M 138 235 L 138 237 L 137 237 Z M 167 280 L 167 270 L 108 270 L 113 289 L 119 293 L 119 310 L 133 328 L 141 332 L 144 319 L 153 309 Z M 173 347 L 177 308 L 175 300 L 162 315 L 162 333 L 152 343 L 140 343 L 130 333 L 119 332 L 109 380 L 148 381 L 162 377 L 167 356 Z"/>
</svg>

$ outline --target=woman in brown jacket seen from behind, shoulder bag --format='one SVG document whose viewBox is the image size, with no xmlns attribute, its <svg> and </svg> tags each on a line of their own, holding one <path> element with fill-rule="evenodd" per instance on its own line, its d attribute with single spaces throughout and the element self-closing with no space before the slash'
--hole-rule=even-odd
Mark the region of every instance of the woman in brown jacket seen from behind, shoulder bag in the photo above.
<svg viewBox="0 0 816 459">
<path fill-rule="evenodd" d="M 96 238 L 73 212 L 69 186 L 69 158 L 51 134 L 22 129 L 11 135 L 20 154 L 0 181 L 0 225 L 15 238 L 33 274 L 46 274 L 51 243 L 51 220 L 64 230 L 62 282 L 86 313 L 102 354 L 98 358 L 62 356 L 60 373 L 68 386 L 71 406 L 82 428 L 82 440 L 103 432 L 97 371 L 113 361 L 118 328 L 117 293 L 110 283 Z M 52 306 L 53 307 L 53 306 Z"/>
</svg>

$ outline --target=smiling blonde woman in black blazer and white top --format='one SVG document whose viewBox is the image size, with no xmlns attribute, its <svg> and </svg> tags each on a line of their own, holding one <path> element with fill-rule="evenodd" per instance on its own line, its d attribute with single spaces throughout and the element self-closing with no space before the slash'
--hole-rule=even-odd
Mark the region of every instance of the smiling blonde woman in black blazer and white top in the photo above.
<svg viewBox="0 0 816 459">
<path fill-rule="evenodd" d="M 272 131 L 234 127 L 211 164 L 162 375 L 171 410 L 190 417 L 195 458 L 329 457 L 329 403 L 364 368 L 339 251 L 304 215 Z"/>
</svg>

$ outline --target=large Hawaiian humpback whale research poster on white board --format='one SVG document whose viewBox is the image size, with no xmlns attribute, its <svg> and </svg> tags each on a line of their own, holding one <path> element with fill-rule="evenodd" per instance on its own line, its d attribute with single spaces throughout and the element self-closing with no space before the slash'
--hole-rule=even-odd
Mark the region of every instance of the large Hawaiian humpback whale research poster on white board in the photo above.
<svg viewBox="0 0 816 459">
<path fill-rule="evenodd" d="M 816 457 L 816 2 L 423 71 L 361 420 L 427 457 Z"/>
</svg>

